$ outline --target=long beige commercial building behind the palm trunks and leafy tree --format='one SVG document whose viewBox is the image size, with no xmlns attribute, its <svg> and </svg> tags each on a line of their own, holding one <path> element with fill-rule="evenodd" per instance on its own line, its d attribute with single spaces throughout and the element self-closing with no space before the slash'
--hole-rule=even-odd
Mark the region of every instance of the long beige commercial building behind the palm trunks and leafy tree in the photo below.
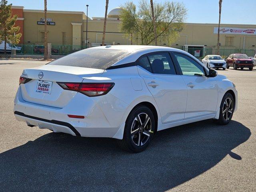
<svg viewBox="0 0 256 192">
<path fill-rule="evenodd" d="M 44 42 L 44 11 L 23 10 L 23 44 L 42 44 Z M 120 32 L 120 8 L 108 13 L 106 24 L 106 44 L 137 44 Z M 73 45 L 73 49 L 86 44 L 86 15 L 84 12 L 48 11 L 48 42 L 58 45 Z M 99 46 L 102 42 L 104 18 L 88 18 L 88 45 Z M 218 24 L 186 23 L 177 42 L 160 46 L 186 48 L 212 48 L 217 46 Z M 77 46 L 77 47 L 76 47 Z M 251 49 L 256 46 L 256 25 L 221 24 L 220 46 L 225 49 Z"/>
</svg>

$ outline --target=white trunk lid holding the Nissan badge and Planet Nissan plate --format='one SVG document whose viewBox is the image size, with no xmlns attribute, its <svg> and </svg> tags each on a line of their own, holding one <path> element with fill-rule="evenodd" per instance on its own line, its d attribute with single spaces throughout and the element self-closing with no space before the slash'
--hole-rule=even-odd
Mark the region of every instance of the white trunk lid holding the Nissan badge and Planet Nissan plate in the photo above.
<svg viewBox="0 0 256 192">
<path fill-rule="evenodd" d="M 74 66 L 44 65 L 26 69 L 22 76 L 30 78 L 21 84 L 22 98 L 27 102 L 63 108 L 77 94 L 64 90 L 57 82 L 82 82 L 84 78 L 102 75 L 104 70 Z"/>
</svg>

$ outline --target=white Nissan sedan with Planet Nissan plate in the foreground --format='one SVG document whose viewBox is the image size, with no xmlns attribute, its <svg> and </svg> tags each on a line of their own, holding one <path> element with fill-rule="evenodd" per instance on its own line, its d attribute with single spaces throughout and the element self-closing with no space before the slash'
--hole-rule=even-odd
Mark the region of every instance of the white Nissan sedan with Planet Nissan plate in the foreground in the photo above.
<svg viewBox="0 0 256 192">
<path fill-rule="evenodd" d="M 101 46 L 25 69 L 14 114 L 28 126 L 110 137 L 130 152 L 157 131 L 205 119 L 228 124 L 235 85 L 194 56 L 160 46 Z"/>
</svg>

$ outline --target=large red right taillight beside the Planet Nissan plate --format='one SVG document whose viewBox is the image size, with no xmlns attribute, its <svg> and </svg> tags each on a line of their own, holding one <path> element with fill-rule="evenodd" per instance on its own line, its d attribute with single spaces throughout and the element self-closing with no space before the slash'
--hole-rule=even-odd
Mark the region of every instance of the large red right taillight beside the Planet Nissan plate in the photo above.
<svg viewBox="0 0 256 192">
<path fill-rule="evenodd" d="M 115 85 L 114 83 L 57 83 L 65 90 L 78 91 L 89 97 L 107 94 Z"/>
</svg>

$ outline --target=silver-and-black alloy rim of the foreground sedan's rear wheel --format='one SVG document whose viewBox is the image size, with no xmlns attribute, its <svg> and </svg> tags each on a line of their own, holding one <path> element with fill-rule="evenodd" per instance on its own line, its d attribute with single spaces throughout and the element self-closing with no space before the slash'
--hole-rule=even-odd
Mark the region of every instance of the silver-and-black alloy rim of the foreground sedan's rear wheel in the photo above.
<svg viewBox="0 0 256 192">
<path fill-rule="evenodd" d="M 151 128 L 151 120 L 148 114 L 138 114 L 134 118 L 131 127 L 131 137 L 134 144 L 137 146 L 144 145 L 150 138 L 150 134 L 152 134 Z"/>
</svg>

